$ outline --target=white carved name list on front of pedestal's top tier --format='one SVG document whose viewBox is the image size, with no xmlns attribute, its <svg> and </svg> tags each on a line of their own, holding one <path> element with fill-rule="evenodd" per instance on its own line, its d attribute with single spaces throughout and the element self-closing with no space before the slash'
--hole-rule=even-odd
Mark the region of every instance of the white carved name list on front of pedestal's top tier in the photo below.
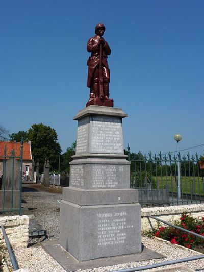
<svg viewBox="0 0 204 272">
<path fill-rule="evenodd" d="M 92 117 L 91 152 L 123 153 L 121 118 Z"/>
</svg>

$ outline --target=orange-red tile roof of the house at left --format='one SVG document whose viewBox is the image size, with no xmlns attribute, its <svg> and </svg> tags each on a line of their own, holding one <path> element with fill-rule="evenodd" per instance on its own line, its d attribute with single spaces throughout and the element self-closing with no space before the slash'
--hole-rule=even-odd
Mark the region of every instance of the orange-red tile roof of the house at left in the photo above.
<svg viewBox="0 0 204 272">
<path fill-rule="evenodd" d="M 20 156 L 20 142 L 4 142 L 0 141 L 0 157 L 4 156 L 4 148 L 6 145 L 7 156 L 11 156 L 11 151 L 14 150 L 15 156 Z M 3 158 L 0 158 L 2 160 Z M 32 160 L 31 144 L 23 143 L 23 160 Z"/>
</svg>

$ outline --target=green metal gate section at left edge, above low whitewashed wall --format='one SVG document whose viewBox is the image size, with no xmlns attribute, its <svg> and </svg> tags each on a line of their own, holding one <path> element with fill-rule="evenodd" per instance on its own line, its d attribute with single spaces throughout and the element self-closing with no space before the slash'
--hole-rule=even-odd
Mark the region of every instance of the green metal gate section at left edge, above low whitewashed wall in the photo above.
<svg viewBox="0 0 204 272">
<path fill-rule="evenodd" d="M 3 175 L 0 177 L 0 215 L 21 214 L 22 142 L 19 154 L 20 156 L 16 156 L 14 150 L 7 154 L 5 145 L 4 156 L 0 156 L 0 162 L 3 163 Z"/>
</svg>

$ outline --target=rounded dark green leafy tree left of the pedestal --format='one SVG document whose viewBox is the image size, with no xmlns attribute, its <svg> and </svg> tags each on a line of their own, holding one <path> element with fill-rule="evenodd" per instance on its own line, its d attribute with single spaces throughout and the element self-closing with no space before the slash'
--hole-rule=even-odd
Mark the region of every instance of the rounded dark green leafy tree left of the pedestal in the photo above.
<svg viewBox="0 0 204 272">
<path fill-rule="evenodd" d="M 49 159 L 50 170 L 57 171 L 61 147 L 55 129 L 43 123 L 33 124 L 28 130 L 28 139 L 31 141 L 35 161 L 39 160 L 40 171 L 43 169 L 45 159 Z"/>
</svg>

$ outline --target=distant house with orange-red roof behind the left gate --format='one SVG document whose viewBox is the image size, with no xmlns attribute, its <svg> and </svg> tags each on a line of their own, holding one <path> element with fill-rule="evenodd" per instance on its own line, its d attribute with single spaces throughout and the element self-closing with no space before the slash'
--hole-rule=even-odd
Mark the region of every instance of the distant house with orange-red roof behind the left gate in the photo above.
<svg viewBox="0 0 204 272">
<path fill-rule="evenodd" d="M 4 142 L 0 141 L 0 177 L 3 174 L 3 161 L 4 150 L 6 146 L 6 156 L 11 156 L 11 151 L 14 150 L 15 156 L 20 156 L 20 142 Z M 8 159 L 8 158 L 7 158 Z M 31 177 L 32 173 L 32 154 L 31 154 L 31 142 L 23 143 L 23 163 L 22 163 L 23 176 L 27 179 Z"/>
</svg>

